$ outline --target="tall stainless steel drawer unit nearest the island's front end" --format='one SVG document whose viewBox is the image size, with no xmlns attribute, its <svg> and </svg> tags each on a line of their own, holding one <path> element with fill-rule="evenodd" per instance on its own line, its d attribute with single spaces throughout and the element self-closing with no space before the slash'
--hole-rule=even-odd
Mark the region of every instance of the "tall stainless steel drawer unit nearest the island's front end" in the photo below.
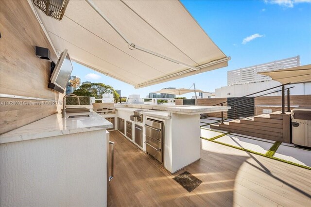
<svg viewBox="0 0 311 207">
<path fill-rule="evenodd" d="M 163 162 L 164 124 L 162 121 L 146 119 L 146 152 Z"/>
</svg>

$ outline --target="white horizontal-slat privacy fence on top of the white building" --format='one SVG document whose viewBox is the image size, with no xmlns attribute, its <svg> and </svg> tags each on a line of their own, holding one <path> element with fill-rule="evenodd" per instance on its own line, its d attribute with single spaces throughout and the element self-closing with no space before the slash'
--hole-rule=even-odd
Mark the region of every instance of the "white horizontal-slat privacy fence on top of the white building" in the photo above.
<svg viewBox="0 0 311 207">
<path fill-rule="evenodd" d="M 265 64 L 258 64 L 250 67 L 244 67 L 237 70 L 228 71 L 228 86 L 245 83 L 263 82 L 271 80 L 269 76 L 258 74 L 258 72 L 286 69 L 299 66 L 299 55 L 279 61 Z"/>
</svg>

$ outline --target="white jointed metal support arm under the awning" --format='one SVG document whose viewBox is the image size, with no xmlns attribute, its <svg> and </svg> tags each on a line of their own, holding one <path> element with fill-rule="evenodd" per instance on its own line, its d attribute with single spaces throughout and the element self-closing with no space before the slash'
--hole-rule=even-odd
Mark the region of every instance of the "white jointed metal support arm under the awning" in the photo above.
<svg viewBox="0 0 311 207">
<path fill-rule="evenodd" d="M 164 56 L 164 55 L 161 55 L 159 53 L 156 53 L 156 52 L 153 52 L 149 49 L 146 49 L 146 48 L 142 48 L 142 47 L 139 47 L 138 45 L 135 45 L 134 43 L 132 43 L 132 41 L 130 41 L 126 36 L 125 34 L 123 34 L 119 28 L 107 17 L 105 16 L 104 12 L 102 12 L 100 10 L 100 8 L 98 8 L 98 6 L 92 1 L 92 0 L 86 0 L 86 2 L 97 12 L 97 14 L 99 14 L 109 25 L 110 27 L 116 31 L 120 36 L 121 38 L 129 45 L 130 48 L 133 48 L 133 49 L 138 49 L 140 51 L 143 51 L 143 52 L 146 52 L 146 53 L 149 53 L 149 54 L 152 54 L 152 55 L 155 55 L 159 58 L 162 58 L 162 59 L 165 59 L 165 60 L 168 60 L 168 61 L 171 61 L 173 63 L 176 63 L 176 64 L 180 64 L 180 65 L 183 65 L 185 67 L 188 67 L 192 70 L 200 70 L 200 68 L 198 67 L 193 67 L 189 64 L 185 64 L 185 63 L 182 63 L 180 61 L 177 61 L 177 60 L 174 60 L 172 58 L 169 58 L 167 56 Z"/>
</svg>

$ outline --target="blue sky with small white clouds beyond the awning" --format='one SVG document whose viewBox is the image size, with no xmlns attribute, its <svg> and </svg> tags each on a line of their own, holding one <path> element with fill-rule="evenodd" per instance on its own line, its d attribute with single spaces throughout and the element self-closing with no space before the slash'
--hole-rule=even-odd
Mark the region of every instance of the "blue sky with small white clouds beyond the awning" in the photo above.
<svg viewBox="0 0 311 207">
<path fill-rule="evenodd" d="M 103 82 L 121 90 L 121 96 L 166 87 L 214 92 L 227 85 L 227 71 L 300 55 L 300 64 L 311 64 L 311 1 L 309 0 L 182 0 L 184 6 L 214 43 L 231 56 L 229 66 L 206 73 L 134 89 L 132 85 L 73 63 L 72 75 L 82 81 Z M 194 94 L 183 95 L 186 97 Z"/>
</svg>

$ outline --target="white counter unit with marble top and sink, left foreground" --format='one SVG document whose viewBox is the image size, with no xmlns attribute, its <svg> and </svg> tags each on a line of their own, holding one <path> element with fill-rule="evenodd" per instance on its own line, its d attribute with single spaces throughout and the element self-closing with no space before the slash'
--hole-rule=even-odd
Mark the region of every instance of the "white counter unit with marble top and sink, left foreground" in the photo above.
<svg viewBox="0 0 311 207">
<path fill-rule="evenodd" d="M 0 135 L 1 206 L 106 206 L 110 127 L 55 113 Z"/>
</svg>

